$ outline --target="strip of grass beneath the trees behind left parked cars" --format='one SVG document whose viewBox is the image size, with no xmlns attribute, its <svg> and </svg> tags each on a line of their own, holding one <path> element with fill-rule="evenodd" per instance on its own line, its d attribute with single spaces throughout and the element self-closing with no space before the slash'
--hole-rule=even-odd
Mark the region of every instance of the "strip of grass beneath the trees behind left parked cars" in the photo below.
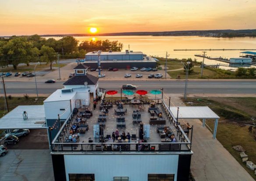
<svg viewBox="0 0 256 181">
<path fill-rule="evenodd" d="M 64 67 L 67 64 L 60 64 L 60 68 Z M 0 68 L 0 72 L 33 72 L 34 71 L 34 67 L 35 65 L 22 65 L 22 66 L 18 66 L 17 70 L 14 70 L 13 67 L 8 67 L 8 68 Z M 52 67 L 58 67 L 58 64 L 53 64 Z M 36 66 L 36 71 L 41 71 L 44 69 L 50 69 L 50 64 L 46 65 L 46 64 L 42 64 L 42 65 L 37 65 Z M 55 69 L 53 69 L 55 70 Z"/>
</svg>

